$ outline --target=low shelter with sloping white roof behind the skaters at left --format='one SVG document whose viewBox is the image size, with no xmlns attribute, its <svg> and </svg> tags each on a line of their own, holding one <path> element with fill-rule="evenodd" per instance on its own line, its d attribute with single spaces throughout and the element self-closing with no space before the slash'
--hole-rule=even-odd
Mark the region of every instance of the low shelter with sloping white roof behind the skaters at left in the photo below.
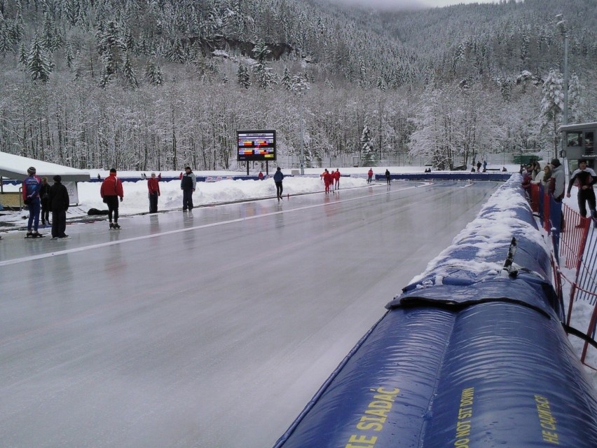
<svg viewBox="0 0 597 448">
<path fill-rule="evenodd" d="M 20 191 L 4 191 L 5 182 L 20 184 L 28 176 L 27 168 L 35 167 L 36 175 L 48 177 L 48 184 L 53 184 L 53 177 L 60 175 L 62 184 L 67 187 L 71 204 L 78 205 L 77 182 L 89 182 L 89 172 L 77 170 L 56 163 L 42 162 L 34 158 L 15 156 L 0 152 L 0 204 L 7 208 L 22 208 Z"/>
</svg>

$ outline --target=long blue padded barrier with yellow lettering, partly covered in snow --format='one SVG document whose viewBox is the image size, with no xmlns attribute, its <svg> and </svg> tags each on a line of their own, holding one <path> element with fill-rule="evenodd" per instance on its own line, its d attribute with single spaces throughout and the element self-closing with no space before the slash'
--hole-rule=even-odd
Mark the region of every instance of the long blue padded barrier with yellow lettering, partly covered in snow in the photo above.
<svg viewBox="0 0 597 448">
<path fill-rule="evenodd" d="M 597 447 L 520 182 L 387 304 L 275 448 Z"/>
</svg>

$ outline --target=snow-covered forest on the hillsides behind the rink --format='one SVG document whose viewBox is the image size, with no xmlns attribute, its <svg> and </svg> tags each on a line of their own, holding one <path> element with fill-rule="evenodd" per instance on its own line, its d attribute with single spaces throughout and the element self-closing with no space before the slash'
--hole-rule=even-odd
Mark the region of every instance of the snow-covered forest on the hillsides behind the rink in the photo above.
<svg viewBox="0 0 597 448">
<path fill-rule="evenodd" d="M 394 12 L 0 0 L 0 151 L 75 168 L 228 169 L 235 131 L 263 128 L 277 130 L 279 156 L 296 156 L 302 135 L 307 166 L 555 154 L 564 29 L 569 122 L 596 121 L 594 0 Z"/>
</svg>

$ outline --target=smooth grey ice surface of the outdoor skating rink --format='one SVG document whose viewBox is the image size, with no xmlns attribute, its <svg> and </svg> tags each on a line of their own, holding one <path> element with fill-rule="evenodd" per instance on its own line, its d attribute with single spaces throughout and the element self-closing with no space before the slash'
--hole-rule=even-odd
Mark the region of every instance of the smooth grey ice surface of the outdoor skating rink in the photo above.
<svg viewBox="0 0 597 448">
<path fill-rule="evenodd" d="M 394 182 L 6 236 L 0 447 L 271 447 L 498 185 Z"/>
</svg>

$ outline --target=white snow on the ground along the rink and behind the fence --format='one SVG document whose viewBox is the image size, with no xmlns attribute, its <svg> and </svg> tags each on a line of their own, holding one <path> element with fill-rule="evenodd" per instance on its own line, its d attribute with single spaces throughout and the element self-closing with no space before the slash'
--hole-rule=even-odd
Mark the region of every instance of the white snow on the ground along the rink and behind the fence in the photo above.
<svg viewBox="0 0 597 448">
<path fill-rule="evenodd" d="M 542 164 L 543 165 L 543 164 Z M 501 168 L 501 167 L 491 167 Z M 518 165 L 506 165 L 509 172 L 518 172 Z M 386 167 L 373 168 L 373 171 L 377 175 L 383 175 Z M 402 173 L 402 172 L 423 172 L 425 167 L 387 167 L 391 173 Z M 330 167 L 328 170 L 336 170 L 336 167 Z M 340 185 L 341 188 L 352 188 L 366 185 L 366 172 L 369 168 L 340 168 L 343 175 L 350 175 L 350 177 L 341 177 Z M 320 174 L 323 168 L 307 168 L 305 170 L 306 176 L 288 176 L 284 179 L 284 196 L 289 194 L 290 196 L 296 194 L 307 194 L 315 193 L 317 191 L 323 191 L 322 180 Z M 291 174 L 290 170 L 283 170 L 286 175 Z M 102 179 L 109 173 L 104 170 L 90 170 L 92 177 L 100 175 Z M 150 172 L 144 172 L 145 175 L 149 176 Z M 195 172 L 197 176 L 210 176 L 210 177 L 226 177 L 226 176 L 237 176 L 245 175 L 245 172 L 229 172 L 229 171 L 203 171 Z M 252 175 L 256 175 L 256 172 L 251 172 Z M 273 170 L 270 170 L 270 174 L 273 174 Z M 130 172 L 123 171 L 118 172 L 120 177 L 141 177 L 141 172 Z M 178 177 L 179 172 L 161 172 L 163 177 Z M 50 184 L 51 184 L 50 179 Z M 104 210 L 105 204 L 102 203 L 102 198 L 99 196 L 100 182 L 81 182 L 78 184 L 78 199 L 79 205 L 69 208 L 67 213 L 67 222 L 69 219 L 76 219 L 86 217 L 90 208 L 97 208 Z M 5 185 L 4 191 L 18 191 L 19 186 Z M 149 200 L 147 197 L 147 182 L 146 180 L 139 180 L 137 182 L 123 182 L 124 190 L 124 201 L 120 205 L 121 215 L 135 215 L 139 213 L 149 212 Z M 178 179 L 171 180 L 168 182 L 160 182 L 160 198 L 158 199 L 158 210 L 165 212 L 167 210 L 180 210 L 182 207 L 182 198 L 180 191 L 180 181 Z M 229 203 L 235 201 L 250 201 L 259 198 L 268 198 L 275 196 L 275 184 L 273 179 L 260 180 L 232 180 L 224 179 L 218 182 L 198 182 L 197 189 L 193 195 L 193 202 L 195 206 L 200 205 L 215 205 L 221 203 Z M 572 189 L 572 195 L 570 198 L 565 199 L 565 203 L 571 208 L 578 210 L 576 201 L 575 187 Z M 13 224 L 14 230 L 22 229 L 22 226 L 26 224 L 27 212 L 2 212 L 0 215 L 0 222 L 6 224 Z M 105 217 L 104 217 L 105 218 Z M 507 224 L 505 223 L 505 226 Z M 6 229 L 6 227 L 5 227 Z M 9 230 L 11 231 L 11 230 Z M 43 231 L 43 229 L 42 229 Z M 549 238 L 546 238 L 549 240 Z M 563 270 L 568 278 L 574 278 L 574 273 L 571 271 L 566 272 Z M 413 279 L 414 280 L 414 279 Z M 566 282 L 563 284 L 564 297 L 568 297 L 570 294 L 570 285 Z M 566 303 L 566 306 L 568 304 Z M 593 306 L 586 301 L 577 301 L 574 306 L 572 313 L 572 327 L 585 332 L 589 327 L 589 320 L 593 313 Z M 572 345 L 580 355 L 582 351 L 582 341 L 578 338 L 571 337 Z M 597 349 L 589 346 L 588 355 L 586 362 L 589 365 L 597 366 Z M 597 372 L 586 367 L 586 371 L 593 379 L 593 385 L 597 388 Z"/>
</svg>

